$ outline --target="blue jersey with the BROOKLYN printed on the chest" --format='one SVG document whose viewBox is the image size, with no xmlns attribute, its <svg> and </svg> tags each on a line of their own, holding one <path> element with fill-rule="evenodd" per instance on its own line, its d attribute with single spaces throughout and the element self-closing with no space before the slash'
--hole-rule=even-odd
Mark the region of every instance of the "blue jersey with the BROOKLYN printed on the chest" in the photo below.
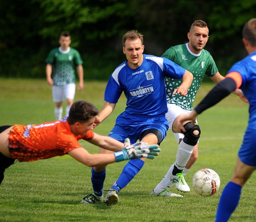
<svg viewBox="0 0 256 222">
<path fill-rule="evenodd" d="M 137 69 L 131 69 L 125 61 L 110 76 L 105 100 L 117 103 L 124 92 L 127 98 L 125 111 L 129 114 L 165 114 L 168 109 L 164 77 L 181 79 L 185 71 L 169 59 L 153 55 L 143 55 L 142 65 Z"/>
</svg>

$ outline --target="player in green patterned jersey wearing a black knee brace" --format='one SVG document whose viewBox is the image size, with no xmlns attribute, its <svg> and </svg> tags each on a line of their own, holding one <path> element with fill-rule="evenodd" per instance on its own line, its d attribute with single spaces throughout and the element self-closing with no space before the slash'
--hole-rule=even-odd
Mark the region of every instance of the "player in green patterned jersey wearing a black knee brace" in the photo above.
<svg viewBox="0 0 256 222">
<path fill-rule="evenodd" d="M 170 59 L 174 63 L 190 71 L 194 76 L 193 82 L 188 89 L 188 94 L 186 94 L 186 96 L 172 94 L 175 88 L 181 84 L 181 80 L 166 78 L 168 105 L 166 118 L 169 123 L 169 129 L 173 132 L 178 132 L 176 117 L 180 114 L 188 114 L 192 111 L 193 101 L 202 83 L 204 75 L 210 77 L 214 83 L 218 83 L 222 79 L 225 79 L 225 77 L 220 75 L 218 72 L 216 64 L 210 53 L 204 49 L 209 38 L 208 33 L 209 29 L 206 22 L 196 20 L 188 32 L 189 42 L 170 47 L 162 55 L 162 57 Z M 233 93 L 240 96 L 244 102 L 248 102 L 240 89 L 236 89 Z M 172 185 L 175 185 L 179 191 L 190 191 L 190 188 L 184 179 L 184 175 L 186 175 L 190 167 L 198 158 L 198 139 L 200 137 L 200 128 L 197 125 L 197 120 L 196 122 L 192 122 L 192 120 L 185 121 L 183 125 L 184 124 L 186 128 L 185 134 L 187 134 L 187 137 L 184 138 L 184 134 L 181 133 L 174 133 L 174 136 L 179 143 L 176 161 L 172 164 L 164 179 L 162 179 L 162 181 L 152 191 L 152 194 L 170 196 L 168 195 L 168 189 L 172 187 Z"/>
</svg>

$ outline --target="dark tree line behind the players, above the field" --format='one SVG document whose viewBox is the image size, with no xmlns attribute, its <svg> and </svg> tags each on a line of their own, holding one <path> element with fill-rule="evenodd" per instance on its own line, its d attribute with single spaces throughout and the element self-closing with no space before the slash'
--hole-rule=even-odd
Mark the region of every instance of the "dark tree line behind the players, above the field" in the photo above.
<svg viewBox="0 0 256 222">
<path fill-rule="evenodd" d="M 208 50 L 222 75 L 247 55 L 242 27 L 256 17 L 255 0 L 8 0 L 0 1 L 0 77 L 45 78 L 45 59 L 62 31 L 84 61 L 85 80 L 106 80 L 126 58 L 122 36 L 144 35 L 144 53 L 161 56 L 188 42 L 198 19 L 208 24 Z"/>
</svg>

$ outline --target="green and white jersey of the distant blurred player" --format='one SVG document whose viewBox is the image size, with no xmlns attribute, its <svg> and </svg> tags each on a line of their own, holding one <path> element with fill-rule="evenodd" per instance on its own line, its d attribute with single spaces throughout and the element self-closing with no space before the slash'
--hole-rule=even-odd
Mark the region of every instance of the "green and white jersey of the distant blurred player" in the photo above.
<svg viewBox="0 0 256 222">
<path fill-rule="evenodd" d="M 67 51 L 52 49 L 45 62 L 52 65 L 54 86 L 76 83 L 75 67 L 83 64 L 79 52 L 70 47 Z"/>
</svg>

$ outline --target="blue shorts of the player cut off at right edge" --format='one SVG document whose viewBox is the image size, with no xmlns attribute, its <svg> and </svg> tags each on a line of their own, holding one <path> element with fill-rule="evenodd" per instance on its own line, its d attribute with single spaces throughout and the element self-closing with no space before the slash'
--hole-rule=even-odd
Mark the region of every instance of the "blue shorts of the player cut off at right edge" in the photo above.
<svg viewBox="0 0 256 222">
<path fill-rule="evenodd" d="M 238 151 L 241 161 L 249 166 L 256 166 L 256 144 L 254 138 L 256 138 L 256 130 L 247 128 L 243 143 Z"/>
</svg>

